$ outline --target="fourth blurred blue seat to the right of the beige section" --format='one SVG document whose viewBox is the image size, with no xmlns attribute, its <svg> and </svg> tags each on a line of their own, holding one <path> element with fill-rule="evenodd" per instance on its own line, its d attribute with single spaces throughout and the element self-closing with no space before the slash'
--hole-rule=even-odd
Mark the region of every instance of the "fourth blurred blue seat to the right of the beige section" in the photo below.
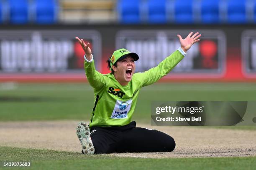
<svg viewBox="0 0 256 170">
<path fill-rule="evenodd" d="M 205 23 L 205 24 L 220 23 L 219 1 L 220 0 L 202 0 L 201 1 L 201 23 Z"/>
</svg>

